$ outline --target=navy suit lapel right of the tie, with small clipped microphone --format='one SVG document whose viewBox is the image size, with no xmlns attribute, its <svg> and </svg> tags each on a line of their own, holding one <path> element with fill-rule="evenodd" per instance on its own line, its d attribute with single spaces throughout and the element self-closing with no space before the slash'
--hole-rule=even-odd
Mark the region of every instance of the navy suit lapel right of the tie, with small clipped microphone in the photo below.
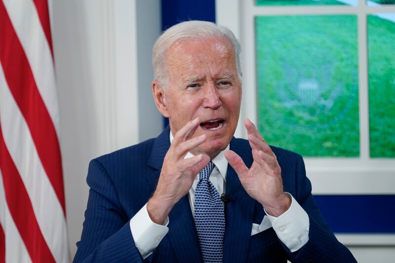
<svg viewBox="0 0 395 263">
<path fill-rule="evenodd" d="M 251 149 L 233 138 L 230 149 L 235 151 L 247 167 L 251 167 Z M 251 236 L 255 201 L 242 187 L 235 170 L 228 164 L 226 195 L 231 202 L 225 205 L 224 262 L 245 262 Z"/>
</svg>

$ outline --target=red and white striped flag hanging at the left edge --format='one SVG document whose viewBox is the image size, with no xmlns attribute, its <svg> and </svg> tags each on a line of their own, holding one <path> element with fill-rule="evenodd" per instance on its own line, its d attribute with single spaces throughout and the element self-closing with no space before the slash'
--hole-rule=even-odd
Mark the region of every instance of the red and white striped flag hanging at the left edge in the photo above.
<svg viewBox="0 0 395 263">
<path fill-rule="evenodd" d="M 0 263 L 69 262 L 47 0 L 0 0 Z"/>
</svg>

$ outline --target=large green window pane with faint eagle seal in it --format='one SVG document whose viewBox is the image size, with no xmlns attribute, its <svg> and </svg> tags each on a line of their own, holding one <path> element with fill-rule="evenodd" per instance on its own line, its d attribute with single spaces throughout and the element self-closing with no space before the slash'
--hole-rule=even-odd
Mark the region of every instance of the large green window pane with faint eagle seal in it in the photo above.
<svg viewBox="0 0 395 263">
<path fill-rule="evenodd" d="M 356 16 L 255 19 L 258 126 L 305 156 L 358 156 Z"/>
</svg>

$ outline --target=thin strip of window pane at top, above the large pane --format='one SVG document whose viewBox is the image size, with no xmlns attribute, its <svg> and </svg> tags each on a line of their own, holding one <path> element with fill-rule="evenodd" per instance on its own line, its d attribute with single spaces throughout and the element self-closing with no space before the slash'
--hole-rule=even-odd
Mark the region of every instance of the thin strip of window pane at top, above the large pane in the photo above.
<svg viewBox="0 0 395 263">
<path fill-rule="evenodd" d="M 257 0 L 257 5 L 357 5 L 358 0 Z"/>
</svg>

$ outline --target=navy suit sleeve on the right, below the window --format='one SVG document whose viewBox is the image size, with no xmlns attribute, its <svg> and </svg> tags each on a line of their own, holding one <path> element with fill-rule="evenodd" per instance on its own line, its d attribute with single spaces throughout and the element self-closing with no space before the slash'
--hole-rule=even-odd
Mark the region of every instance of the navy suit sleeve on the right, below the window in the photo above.
<svg viewBox="0 0 395 263">
<path fill-rule="evenodd" d="M 296 197 L 302 208 L 309 215 L 309 241 L 297 252 L 286 249 L 291 262 L 319 263 L 356 263 L 351 252 L 341 244 L 325 222 L 311 193 L 312 186 L 306 177 L 303 158 L 297 155 L 296 161 Z"/>
</svg>

